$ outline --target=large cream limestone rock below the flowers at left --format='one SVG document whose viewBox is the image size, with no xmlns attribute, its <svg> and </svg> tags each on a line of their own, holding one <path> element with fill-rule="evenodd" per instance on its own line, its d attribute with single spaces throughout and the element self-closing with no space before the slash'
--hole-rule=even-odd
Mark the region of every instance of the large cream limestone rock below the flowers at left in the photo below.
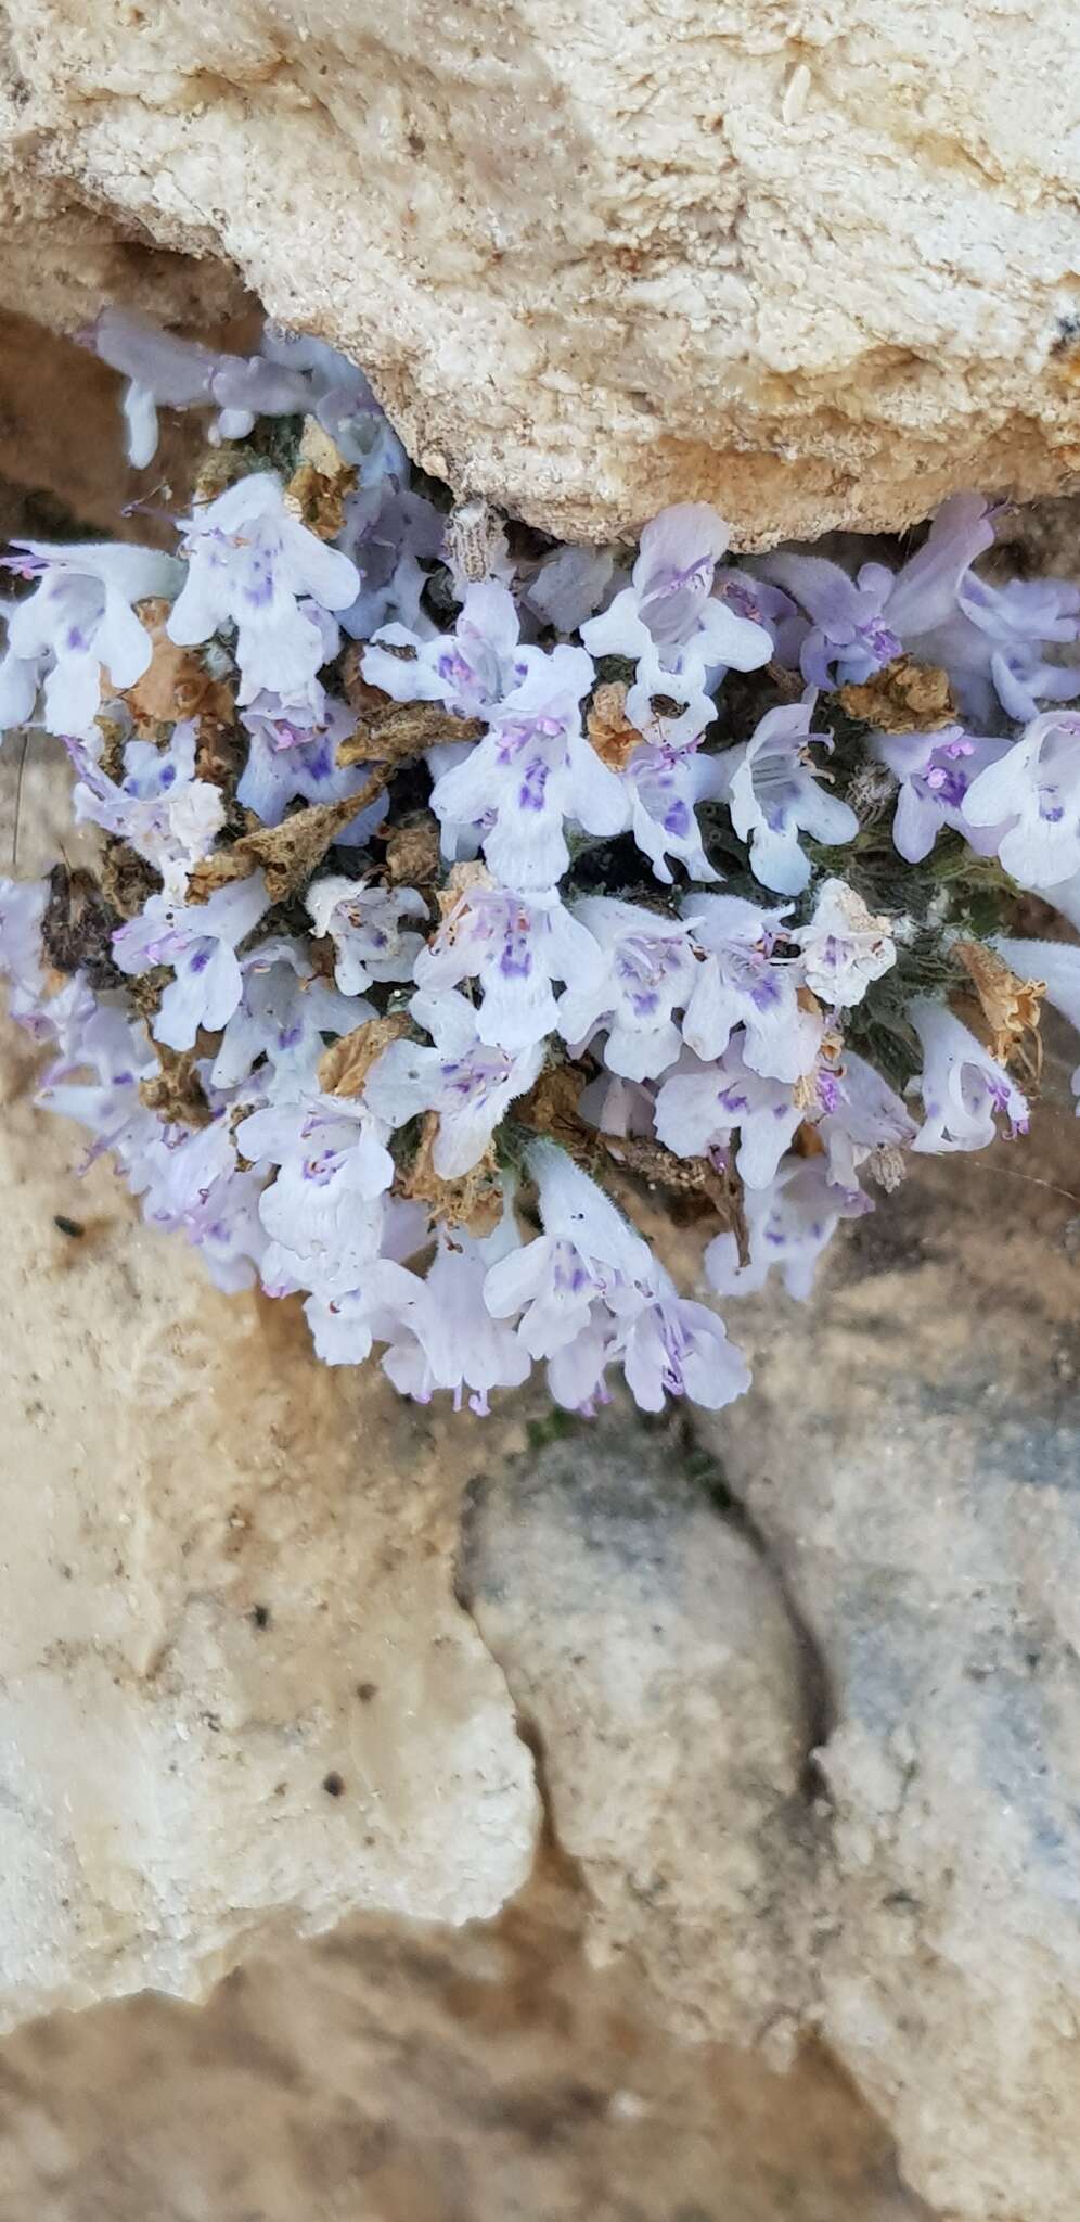
<svg viewBox="0 0 1080 2222">
<path fill-rule="evenodd" d="M 200 1995 L 358 1909 L 496 1913 L 538 1800 L 451 1593 L 469 1420 L 76 1180 L 7 1027 L 2 1080 L 0 2022 Z"/>
</svg>

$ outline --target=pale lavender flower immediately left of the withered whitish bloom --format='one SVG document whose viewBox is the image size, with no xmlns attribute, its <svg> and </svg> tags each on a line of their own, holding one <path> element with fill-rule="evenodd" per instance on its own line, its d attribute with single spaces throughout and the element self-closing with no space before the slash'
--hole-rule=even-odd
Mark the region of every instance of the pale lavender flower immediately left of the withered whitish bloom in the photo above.
<svg viewBox="0 0 1080 2222">
<path fill-rule="evenodd" d="M 800 1080 L 822 1040 L 822 1020 L 798 1000 L 800 964 L 776 955 L 784 935 L 782 909 L 762 911 L 740 895 L 687 895 L 682 918 L 698 964 L 682 1020 L 682 1040 L 698 1058 L 722 1058 L 742 1027 L 742 1055 L 764 1080 Z"/>
</svg>

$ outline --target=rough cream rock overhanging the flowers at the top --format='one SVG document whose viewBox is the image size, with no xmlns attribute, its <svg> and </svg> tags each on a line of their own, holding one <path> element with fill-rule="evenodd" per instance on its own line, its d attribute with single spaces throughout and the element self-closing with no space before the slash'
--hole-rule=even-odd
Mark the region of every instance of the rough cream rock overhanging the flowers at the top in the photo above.
<svg viewBox="0 0 1080 2222">
<path fill-rule="evenodd" d="M 564 533 L 1078 482 L 1069 0 L 4 13 L 22 313 L 153 300 L 147 240 L 222 258 L 427 469 Z"/>
</svg>

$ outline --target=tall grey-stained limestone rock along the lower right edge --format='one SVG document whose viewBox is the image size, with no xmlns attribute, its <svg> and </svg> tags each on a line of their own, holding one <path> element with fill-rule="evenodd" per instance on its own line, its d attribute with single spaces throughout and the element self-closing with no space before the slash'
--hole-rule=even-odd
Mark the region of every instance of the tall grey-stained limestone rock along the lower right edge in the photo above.
<svg viewBox="0 0 1080 2222">
<path fill-rule="evenodd" d="M 1071 1060 L 1069 1060 L 1071 1062 Z M 820 2022 L 964 2222 L 1073 2222 L 1080 2040 L 1078 1151 L 927 1160 L 809 1307 L 729 1307 L 711 1429 L 829 1675 Z"/>
</svg>

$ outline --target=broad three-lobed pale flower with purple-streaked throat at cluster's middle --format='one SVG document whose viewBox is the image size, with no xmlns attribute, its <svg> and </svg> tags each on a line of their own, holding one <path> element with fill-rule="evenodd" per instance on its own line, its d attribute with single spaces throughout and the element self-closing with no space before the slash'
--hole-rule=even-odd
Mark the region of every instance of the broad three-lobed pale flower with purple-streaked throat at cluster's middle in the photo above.
<svg viewBox="0 0 1080 2222">
<path fill-rule="evenodd" d="M 491 880 L 473 880 L 447 911 L 431 947 L 420 947 L 416 984 L 438 993 L 478 980 L 476 1031 L 489 1047 L 513 1055 L 556 1031 L 556 982 L 598 980 L 602 969 L 593 935 L 558 895 L 509 895 Z"/>
</svg>

